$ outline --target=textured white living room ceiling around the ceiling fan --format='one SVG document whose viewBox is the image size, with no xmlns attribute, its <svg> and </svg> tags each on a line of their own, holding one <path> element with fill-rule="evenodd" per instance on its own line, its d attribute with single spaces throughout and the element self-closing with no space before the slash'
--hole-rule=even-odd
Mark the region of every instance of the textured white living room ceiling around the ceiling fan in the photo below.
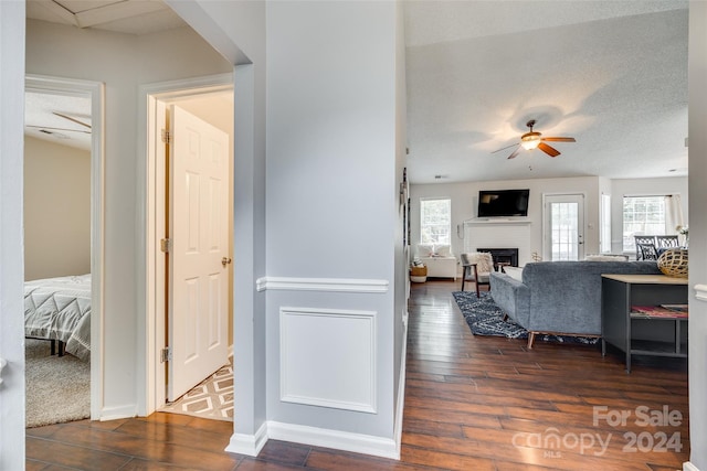
<svg viewBox="0 0 707 471">
<path fill-rule="evenodd" d="M 687 2 L 405 7 L 413 183 L 686 174 Z M 529 119 L 577 142 L 492 153 Z"/>
</svg>

